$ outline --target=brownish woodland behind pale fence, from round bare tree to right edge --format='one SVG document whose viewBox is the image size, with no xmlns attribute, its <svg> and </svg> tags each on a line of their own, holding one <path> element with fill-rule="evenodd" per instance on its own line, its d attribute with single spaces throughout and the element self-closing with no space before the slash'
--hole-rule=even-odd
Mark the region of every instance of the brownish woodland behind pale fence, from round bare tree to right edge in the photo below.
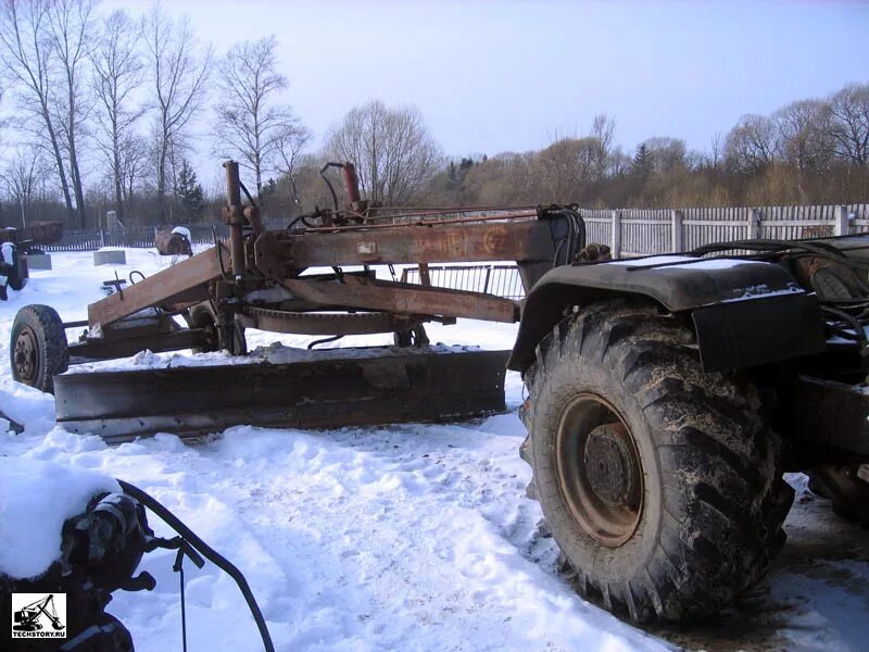
<svg viewBox="0 0 869 652">
<path fill-rule="evenodd" d="M 370 147 L 376 134 L 377 152 Z M 408 135 L 406 146 L 400 135 Z M 432 153 L 438 146 L 417 111 L 373 102 L 345 118 L 319 156 L 305 160 L 297 186 L 314 203 L 329 205 L 316 168 L 338 158 L 356 162 L 368 197 L 388 205 L 577 202 L 616 209 L 869 200 L 869 84 L 794 101 L 770 115 L 744 115 L 705 151 L 691 150 L 679 138 L 654 137 L 628 153 L 615 139 L 615 118 L 601 114 L 588 134 L 555 138 L 539 151 L 438 164 Z"/>
</svg>

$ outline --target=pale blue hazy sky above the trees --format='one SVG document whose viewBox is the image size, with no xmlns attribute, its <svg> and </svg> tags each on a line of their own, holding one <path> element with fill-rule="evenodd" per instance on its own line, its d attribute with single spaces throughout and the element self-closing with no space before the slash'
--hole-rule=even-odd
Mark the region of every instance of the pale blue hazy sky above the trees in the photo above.
<svg viewBox="0 0 869 652">
<path fill-rule="evenodd" d="M 139 0 L 103 2 L 139 14 Z M 745 113 L 869 82 L 869 2 L 173 1 L 221 53 L 275 34 L 318 142 L 353 105 L 419 106 L 449 155 L 541 148 L 614 115 L 704 149 Z M 212 98 L 216 101 L 216 98 Z M 204 148 L 203 148 L 204 149 Z"/>
</svg>

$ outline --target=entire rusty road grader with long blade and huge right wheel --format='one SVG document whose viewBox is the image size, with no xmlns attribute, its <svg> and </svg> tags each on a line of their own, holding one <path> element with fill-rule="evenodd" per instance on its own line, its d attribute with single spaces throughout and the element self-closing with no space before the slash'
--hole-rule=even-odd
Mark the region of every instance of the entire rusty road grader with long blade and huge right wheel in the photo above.
<svg viewBox="0 0 869 652">
<path fill-rule="evenodd" d="M 269 230 L 237 164 L 225 167 L 228 241 L 92 303 L 86 323 L 48 306 L 16 316 L 14 377 L 53 391 L 68 429 L 119 441 L 467 418 L 503 410 L 504 369 L 517 371 L 528 492 L 563 569 L 634 622 L 717 612 L 763 577 L 784 542 L 785 471 L 808 473 L 841 514 L 869 515 L 869 237 L 590 260 L 602 250 L 575 206 L 395 213 L 361 200 L 351 165 L 349 206 Z M 426 283 L 430 263 L 506 260 L 521 302 Z M 419 265 L 423 283 L 369 267 L 390 264 Z M 519 322 L 514 349 L 428 343 L 426 323 L 459 317 Z M 67 343 L 72 326 L 87 330 Z M 142 349 L 240 355 L 245 328 L 393 333 L 395 347 L 64 373 Z"/>
</svg>

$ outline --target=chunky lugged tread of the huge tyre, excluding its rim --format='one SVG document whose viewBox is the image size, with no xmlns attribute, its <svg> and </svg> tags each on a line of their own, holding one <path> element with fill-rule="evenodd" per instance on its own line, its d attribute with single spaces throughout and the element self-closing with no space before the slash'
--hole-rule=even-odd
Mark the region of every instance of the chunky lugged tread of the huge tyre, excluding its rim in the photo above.
<svg viewBox="0 0 869 652">
<path fill-rule="evenodd" d="M 747 380 L 703 373 L 691 328 L 648 302 L 588 306 L 557 324 L 536 353 L 526 374 L 527 424 L 557 417 L 543 392 L 582 390 L 571 366 L 597 364 L 635 397 L 665 466 L 654 553 L 639 576 L 624 581 L 576 568 L 583 595 L 599 594 L 605 607 L 634 622 L 680 620 L 732 602 L 766 573 L 784 541 L 793 490 L 781 477 L 783 446 L 765 427 Z M 551 464 L 536 464 L 529 431 L 524 457 L 536 473 L 552 473 Z"/>
</svg>

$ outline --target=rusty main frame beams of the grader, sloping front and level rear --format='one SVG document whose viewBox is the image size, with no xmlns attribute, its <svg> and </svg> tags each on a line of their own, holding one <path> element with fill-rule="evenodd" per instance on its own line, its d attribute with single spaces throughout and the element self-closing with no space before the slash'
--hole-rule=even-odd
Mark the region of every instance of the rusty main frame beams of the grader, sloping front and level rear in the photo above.
<svg viewBox="0 0 869 652">
<path fill-rule="evenodd" d="M 168 269 L 134 284 L 88 306 L 91 328 L 102 328 L 144 309 L 161 306 L 180 312 L 210 297 L 216 281 L 235 281 L 244 291 L 273 279 L 300 299 L 325 306 L 378 310 L 401 314 L 462 316 L 498 322 L 518 321 L 514 302 L 480 293 L 377 281 L 371 287 L 350 283 L 325 284 L 299 279 L 312 266 L 367 264 L 428 264 L 514 260 L 529 286 L 551 266 L 555 246 L 545 221 L 489 222 L 438 226 L 394 226 L 389 229 L 339 230 L 290 235 L 263 231 L 240 250 L 243 273 L 236 275 L 226 243 L 218 243 Z M 253 263 L 251 261 L 253 260 Z M 231 277 L 236 277 L 235 279 Z M 294 290 L 293 290 L 294 288 Z"/>
</svg>

